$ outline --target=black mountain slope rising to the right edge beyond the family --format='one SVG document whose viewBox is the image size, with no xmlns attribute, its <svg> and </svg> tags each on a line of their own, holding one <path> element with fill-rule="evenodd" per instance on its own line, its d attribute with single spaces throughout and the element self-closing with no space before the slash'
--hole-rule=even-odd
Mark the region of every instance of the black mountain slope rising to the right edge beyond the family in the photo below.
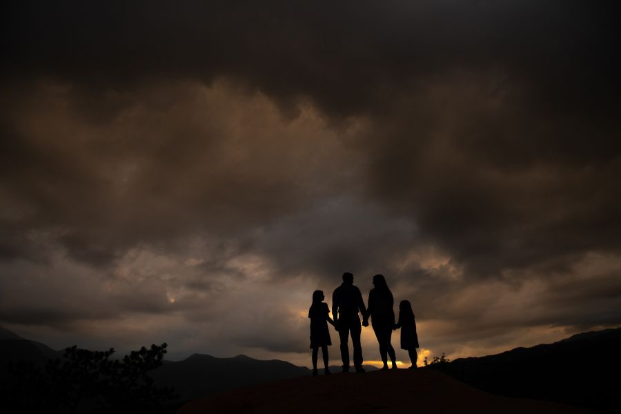
<svg viewBox="0 0 621 414">
<path fill-rule="evenodd" d="M 429 367 L 497 395 L 618 413 L 620 350 L 621 328 L 617 328 Z"/>
</svg>

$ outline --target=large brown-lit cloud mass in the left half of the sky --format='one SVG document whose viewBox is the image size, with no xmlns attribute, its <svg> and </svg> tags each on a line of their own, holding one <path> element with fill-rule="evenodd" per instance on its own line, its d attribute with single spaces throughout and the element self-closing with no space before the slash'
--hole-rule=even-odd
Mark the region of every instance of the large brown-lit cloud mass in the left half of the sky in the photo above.
<svg viewBox="0 0 621 414">
<path fill-rule="evenodd" d="M 315 176 L 335 172 L 334 185 L 335 160 L 347 159 L 311 110 L 284 121 L 265 97 L 227 86 L 159 84 L 105 126 L 70 105 L 69 86 L 26 91 L 25 103 L 3 99 L 6 124 L 21 130 L 0 155 L 6 197 L 21 207 L 6 226 L 52 231 L 69 255 L 99 266 L 186 235 L 223 235 L 227 246 L 324 193 Z"/>
</svg>

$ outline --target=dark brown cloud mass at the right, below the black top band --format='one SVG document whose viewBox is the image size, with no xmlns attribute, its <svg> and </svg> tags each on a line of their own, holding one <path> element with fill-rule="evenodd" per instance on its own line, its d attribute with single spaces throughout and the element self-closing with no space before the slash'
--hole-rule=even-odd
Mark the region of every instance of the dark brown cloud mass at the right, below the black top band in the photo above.
<svg viewBox="0 0 621 414">
<path fill-rule="evenodd" d="M 414 121 L 395 121 L 391 138 L 373 146 L 373 197 L 409 213 L 472 275 L 618 251 L 620 124 L 549 119 L 486 97 L 486 80 L 471 82 L 445 80 L 440 91 L 431 83 L 415 101 L 428 117 L 412 110 Z"/>
</svg>

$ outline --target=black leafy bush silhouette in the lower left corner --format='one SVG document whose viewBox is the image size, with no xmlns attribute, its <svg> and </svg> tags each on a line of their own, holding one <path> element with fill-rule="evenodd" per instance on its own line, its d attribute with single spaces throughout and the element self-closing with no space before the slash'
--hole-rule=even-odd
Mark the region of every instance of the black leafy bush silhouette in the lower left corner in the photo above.
<svg viewBox="0 0 621 414">
<path fill-rule="evenodd" d="M 10 398 L 26 412 L 103 413 L 153 411 L 175 399 L 172 388 L 156 388 L 148 371 L 161 366 L 166 344 L 131 351 L 110 359 L 108 351 L 72 346 L 64 359 L 50 359 L 45 368 L 28 362 L 10 367 Z"/>
</svg>

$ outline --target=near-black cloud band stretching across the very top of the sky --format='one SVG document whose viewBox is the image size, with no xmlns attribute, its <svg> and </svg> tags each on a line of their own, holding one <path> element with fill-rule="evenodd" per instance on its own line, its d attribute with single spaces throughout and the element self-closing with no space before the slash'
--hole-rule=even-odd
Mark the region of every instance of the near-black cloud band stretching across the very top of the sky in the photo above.
<svg viewBox="0 0 621 414">
<path fill-rule="evenodd" d="M 455 68 L 504 72 L 530 83 L 539 106 L 580 103 L 580 113 L 609 108 L 619 92 L 613 1 L 26 1 L 4 9 L 11 75 L 89 88 L 230 75 L 283 102 L 312 97 L 335 115 L 386 110 L 404 86 Z"/>
</svg>

